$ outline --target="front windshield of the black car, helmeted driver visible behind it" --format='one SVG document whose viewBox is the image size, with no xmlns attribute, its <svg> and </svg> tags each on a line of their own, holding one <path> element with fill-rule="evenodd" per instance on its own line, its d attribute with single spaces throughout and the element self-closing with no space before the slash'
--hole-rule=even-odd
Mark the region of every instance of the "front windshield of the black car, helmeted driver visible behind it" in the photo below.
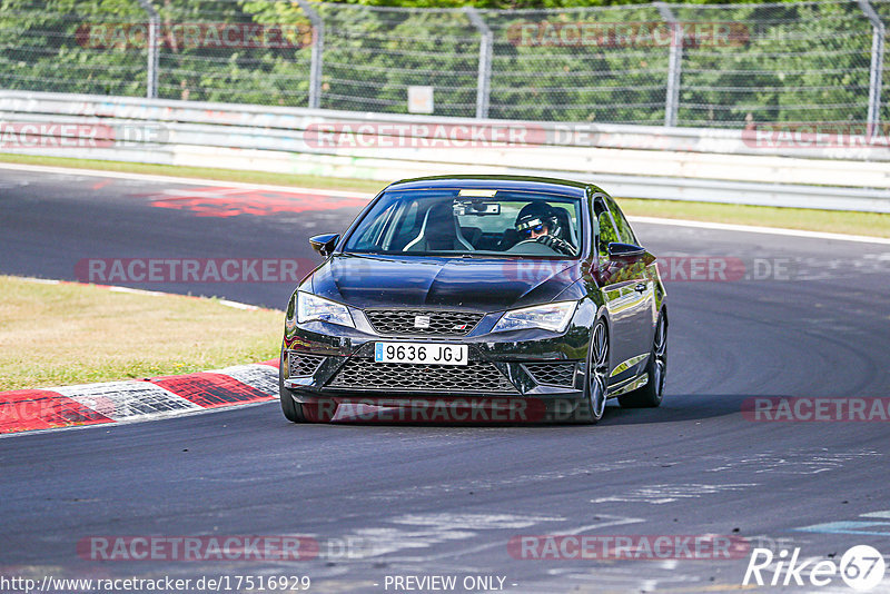
<svg viewBox="0 0 890 594">
<path fill-rule="evenodd" d="M 575 258 L 581 199 L 494 189 L 390 190 L 344 251 Z"/>
</svg>

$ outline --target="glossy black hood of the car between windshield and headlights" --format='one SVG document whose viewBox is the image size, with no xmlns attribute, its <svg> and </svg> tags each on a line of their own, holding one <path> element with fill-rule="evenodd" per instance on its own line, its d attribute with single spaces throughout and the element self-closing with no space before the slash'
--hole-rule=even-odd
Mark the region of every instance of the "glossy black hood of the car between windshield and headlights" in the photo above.
<svg viewBox="0 0 890 594">
<path fill-rule="evenodd" d="M 553 300 L 581 278 L 577 260 L 337 255 L 312 278 L 319 297 L 358 308 L 497 311 Z"/>
</svg>

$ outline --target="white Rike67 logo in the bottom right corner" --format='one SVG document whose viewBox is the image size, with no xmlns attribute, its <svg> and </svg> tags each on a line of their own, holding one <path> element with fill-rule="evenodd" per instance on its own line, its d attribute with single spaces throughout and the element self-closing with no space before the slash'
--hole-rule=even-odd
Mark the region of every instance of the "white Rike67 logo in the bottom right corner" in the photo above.
<svg viewBox="0 0 890 594">
<path fill-rule="evenodd" d="M 769 548 L 754 548 L 748 561 L 742 585 L 822 587 L 840 575 L 851 588 L 869 592 L 881 583 L 886 571 L 883 556 L 869 545 L 850 547 L 840 563 L 832 560 L 801 558 L 800 547 L 795 547 L 790 556 L 788 550 L 775 555 Z"/>
</svg>

